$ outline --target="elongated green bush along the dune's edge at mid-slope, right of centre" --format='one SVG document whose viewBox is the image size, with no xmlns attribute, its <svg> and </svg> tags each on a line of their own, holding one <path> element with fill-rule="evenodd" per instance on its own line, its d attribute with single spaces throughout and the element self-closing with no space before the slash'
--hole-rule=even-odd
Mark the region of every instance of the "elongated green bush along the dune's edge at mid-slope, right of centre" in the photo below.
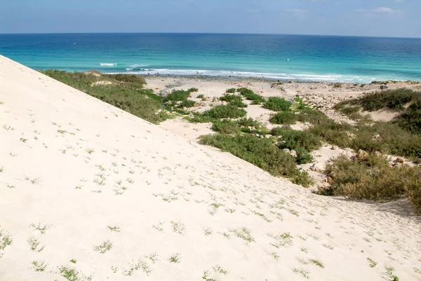
<svg viewBox="0 0 421 281">
<path fill-rule="evenodd" d="M 274 146 L 271 139 L 259 139 L 248 134 L 216 134 L 202 136 L 199 143 L 230 152 L 274 176 L 289 177 L 303 186 L 310 184 L 308 174 L 298 170 L 295 158 Z"/>
</svg>

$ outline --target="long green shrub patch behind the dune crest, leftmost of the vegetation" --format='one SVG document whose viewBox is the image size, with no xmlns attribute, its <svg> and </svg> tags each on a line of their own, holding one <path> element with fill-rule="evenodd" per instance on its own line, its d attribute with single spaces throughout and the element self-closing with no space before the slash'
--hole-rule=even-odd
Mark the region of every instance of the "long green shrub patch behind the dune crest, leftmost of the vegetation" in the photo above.
<svg viewBox="0 0 421 281">
<path fill-rule="evenodd" d="M 151 123 L 157 124 L 168 118 L 168 114 L 162 111 L 161 97 L 154 95 L 152 90 L 143 88 L 145 81 L 140 76 L 102 74 L 98 77 L 83 72 L 51 69 L 41 73 Z M 95 85 L 98 81 L 109 81 L 112 84 Z"/>
</svg>

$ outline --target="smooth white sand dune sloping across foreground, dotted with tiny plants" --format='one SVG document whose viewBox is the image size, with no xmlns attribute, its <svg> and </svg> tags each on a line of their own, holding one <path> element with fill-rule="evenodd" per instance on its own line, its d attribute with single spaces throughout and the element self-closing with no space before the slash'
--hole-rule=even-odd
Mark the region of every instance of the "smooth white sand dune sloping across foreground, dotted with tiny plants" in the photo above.
<svg viewBox="0 0 421 281">
<path fill-rule="evenodd" d="M 5 57 L 0 103 L 1 281 L 421 279 L 414 218 L 315 196 Z"/>
</svg>

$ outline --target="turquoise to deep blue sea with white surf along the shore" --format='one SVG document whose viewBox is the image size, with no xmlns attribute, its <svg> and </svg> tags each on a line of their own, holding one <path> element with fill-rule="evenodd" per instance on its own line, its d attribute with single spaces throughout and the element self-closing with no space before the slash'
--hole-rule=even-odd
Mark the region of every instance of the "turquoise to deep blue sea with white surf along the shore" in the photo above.
<svg viewBox="0 0 421 281">
<path fill-rule="evenodd" d="M 34 69 L 421 81 L 421 39 L 258 34 L 0 34 L 0 54 Z"/>
</svg>

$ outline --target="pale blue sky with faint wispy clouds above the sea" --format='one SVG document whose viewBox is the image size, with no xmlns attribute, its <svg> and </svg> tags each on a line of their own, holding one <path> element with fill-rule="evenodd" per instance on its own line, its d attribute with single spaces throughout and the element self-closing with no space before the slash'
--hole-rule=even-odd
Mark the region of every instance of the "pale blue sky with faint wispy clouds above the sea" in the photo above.
<svg viewBox="0 0 421 281">
<path fill-rule="evenodd" d="M 0 1 L 0 33 L 224 32 L 421 37 L 420 0 Z"/>
</svg>

